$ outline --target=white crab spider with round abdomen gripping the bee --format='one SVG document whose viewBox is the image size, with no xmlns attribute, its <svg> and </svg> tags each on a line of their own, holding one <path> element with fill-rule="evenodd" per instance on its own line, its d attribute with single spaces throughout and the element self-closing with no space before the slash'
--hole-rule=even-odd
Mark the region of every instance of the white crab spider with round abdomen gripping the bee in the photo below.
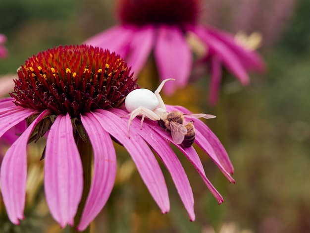
<svg viewBox="0 0 310 233">
<path fill-rule="evenodd" d="M 141 128 L 145 117 L 151 120 L 160 120 L 167 116 L 167 109 L 159 92 L 167 81 L 175 81 L 173 78 L 163 80 L 153 93 L 149 89 L 140 88 L 130 92 L 125 99 L 126 110 L 130 113 L 128 121 L 128 137 L 131 121 L 141 115 Z M 128 116 L 127 115 L 127 116 Z"/>
</svg>

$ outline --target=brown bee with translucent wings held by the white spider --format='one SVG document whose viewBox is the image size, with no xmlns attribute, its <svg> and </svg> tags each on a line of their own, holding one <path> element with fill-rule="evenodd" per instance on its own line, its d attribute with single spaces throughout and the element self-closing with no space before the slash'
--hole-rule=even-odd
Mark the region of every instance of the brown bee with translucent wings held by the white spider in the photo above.
<svg viewBox="0 0 310 233">
<path fill-rule="evenodd" d="M 192 120 L 184 124 L 184 117 L 204 117 L 210 119 L 215 116 L 208 114 L 183 114 L 178 111 L 171 111 L 166 117 L 157 121 L 160 127 L 171 133 L 172 140 L 176 144 L 181 144 L 184 148 L 188 148 L 195 141 L 195 128 Z"/>
</svg>

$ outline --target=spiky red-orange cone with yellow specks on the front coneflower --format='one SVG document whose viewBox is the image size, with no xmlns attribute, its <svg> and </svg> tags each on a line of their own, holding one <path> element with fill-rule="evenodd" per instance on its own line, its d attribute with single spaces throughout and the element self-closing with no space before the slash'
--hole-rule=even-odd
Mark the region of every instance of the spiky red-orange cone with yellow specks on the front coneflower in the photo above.
<svg viewBox="0 0 310 233">
<path fill-rule="evenodd" d="M 79 117 L 117 107 L 136 87 L 132 75 L 124 60 L 108 50 L 59 46 L 26 60 L 11 96 L 24 108 Z"/>
</svg>

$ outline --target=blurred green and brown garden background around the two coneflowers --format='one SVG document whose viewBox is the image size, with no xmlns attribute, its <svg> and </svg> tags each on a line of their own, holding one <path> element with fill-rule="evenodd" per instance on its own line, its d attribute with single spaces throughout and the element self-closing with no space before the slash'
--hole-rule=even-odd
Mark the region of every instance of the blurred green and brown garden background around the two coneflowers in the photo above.
<svg viewBox="0 0 310 233">
<path fill-rule="evenodd" d="M 113 0 L 0 0 L 0 33 L 7 37 L 4 45 L 9 51 L 7 58 L 0 59 L 0 75 L 14 74 L 28 57 L 42 50 L 81 44 L 115 25 L 114 4 Z M 226 148 L 236 184 L 229 184 L 196 148 L 207 177 L 224 197 L 218 205 L 180 154 L 194 192 L 196 221 L 189 221 L 165 168 L 171 210 L 161 215 L 130 156 L 115 145 L 117 180 L 92 225 L 94 233 L 310 232 L 310 1 L 204 0 L 204 4 L 202 23 L 233 34 L 261 34 L 258 52 L 266 72 L 251 74 L 247 87 L 225 75 L 215 107 L 207 105 L 207 78 L 163 99 L 166 104 L 217 116 L 205 122 Z M 147 74 L 142 72 L 140 86 L 158 83 L 148 80 Z M 32 147 L 31 153 L 38 153 Z M 40 155 L 35 158 L 37 163 Z M 42 183 L 38 178 L 42 171 L 36 171 L 31 177 Z M 0 205 L 1 233 L 68 232 L 49 216 L 42 186 L 35 190 L 20 226 L 9 223 Z"/>
</svg>

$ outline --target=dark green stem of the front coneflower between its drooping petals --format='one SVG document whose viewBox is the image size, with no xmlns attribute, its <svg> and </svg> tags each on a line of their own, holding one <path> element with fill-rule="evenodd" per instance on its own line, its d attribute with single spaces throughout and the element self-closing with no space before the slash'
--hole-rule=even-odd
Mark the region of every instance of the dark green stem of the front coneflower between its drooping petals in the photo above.
<svg viewBox="0 0 310 233">
<path fill-rule="evenodd" d="M 82 164 L 83 164 L 83 194 L 82 199 L 79 204 L 77 213 L 74 218 L 74 226 L 70 227 L 70 233 L 81 233 L 79 232 L 76 227 L 78 226 L 80 219 L 82 217 L 83 209 L 86 203 L 86 199 L 91 187 L 91 180 L 92 180 L 92 159 L 93 159 L 93 149 L 88 139 L 87 142 L 84 142 L 79 138 L 77 142 L 77 147 L 80 152 Z M 88 226 L 82 233 L 90 233 L 91 228 Z"/>
</svg>

